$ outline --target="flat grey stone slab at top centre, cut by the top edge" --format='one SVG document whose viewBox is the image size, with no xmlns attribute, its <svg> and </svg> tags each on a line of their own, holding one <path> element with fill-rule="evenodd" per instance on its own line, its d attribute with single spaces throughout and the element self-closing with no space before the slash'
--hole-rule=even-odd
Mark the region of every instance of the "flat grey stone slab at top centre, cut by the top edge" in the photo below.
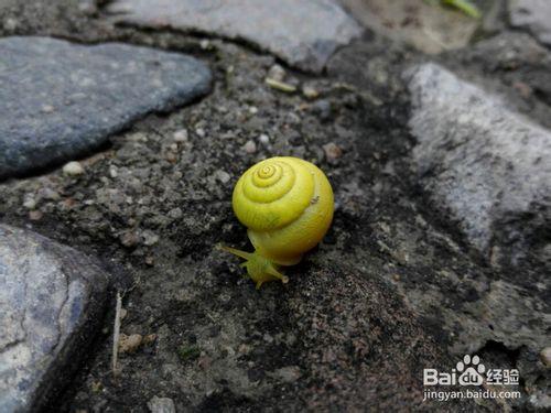
<svg viewBox="0 0 551 413">
<path fill-rule="evenodd" d="M 361 33 L 332 0 L 116 0 L 108 11 L 120 22 L 245 40 L 316 73 Z"/>
</svg>

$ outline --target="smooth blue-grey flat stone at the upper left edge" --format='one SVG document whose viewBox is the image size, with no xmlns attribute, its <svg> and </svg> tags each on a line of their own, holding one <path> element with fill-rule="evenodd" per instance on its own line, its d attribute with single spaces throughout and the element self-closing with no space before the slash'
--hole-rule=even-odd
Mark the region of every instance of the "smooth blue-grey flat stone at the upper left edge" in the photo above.
<svg viewBox="0 0 551 413">
<path fill-rule="evenodd" d="M 151 111 L 208 93 L 181 54 L 50 37 L 0 39 L 0 180 L 89 153 Z"/>
</svg>

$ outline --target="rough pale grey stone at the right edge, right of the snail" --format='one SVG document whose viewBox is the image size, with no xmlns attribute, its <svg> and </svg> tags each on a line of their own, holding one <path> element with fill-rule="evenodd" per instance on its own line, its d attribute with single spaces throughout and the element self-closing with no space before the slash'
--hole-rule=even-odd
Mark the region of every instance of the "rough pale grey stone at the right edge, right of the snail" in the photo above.
<svg viewBox="0 0 551 413">
<path fill-rule="evenodd" d="M 480 251 L 522 253 L 551 221 L 551 132 L 439 65 L 406 77 L 413 160 L 434 206 Z"/>
</svg>

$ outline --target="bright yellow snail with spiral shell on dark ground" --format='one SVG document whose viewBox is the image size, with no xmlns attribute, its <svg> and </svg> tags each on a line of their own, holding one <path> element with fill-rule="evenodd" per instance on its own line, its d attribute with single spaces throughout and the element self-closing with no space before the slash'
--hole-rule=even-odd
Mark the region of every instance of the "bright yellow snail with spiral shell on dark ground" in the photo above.
<svg viewBox="0 0 551 413">
<path fill-rule="evenodd" d="M 314 164 L 270 157 L 241 175 L 231 205 L 255 252 L 222 248 L 247 260 L 241 267 L 258 290 L 267 281 L 289 282 L 280 267 L 299 263 L 323 239 L 333 219 L 333 189 Z"/>
</svg>

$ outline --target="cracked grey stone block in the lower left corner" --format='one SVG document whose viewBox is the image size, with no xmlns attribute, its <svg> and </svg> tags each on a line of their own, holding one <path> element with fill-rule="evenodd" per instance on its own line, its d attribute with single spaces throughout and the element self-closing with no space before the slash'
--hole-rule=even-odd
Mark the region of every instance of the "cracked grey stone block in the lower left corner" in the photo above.
<svg viewBox="0 0 551 413">
<path fill-rule="evenodd" d="M 0 412 L 37 410 L 71 380 L 107 285 L 86 256 L 0 224 Z"/>
</svg>

